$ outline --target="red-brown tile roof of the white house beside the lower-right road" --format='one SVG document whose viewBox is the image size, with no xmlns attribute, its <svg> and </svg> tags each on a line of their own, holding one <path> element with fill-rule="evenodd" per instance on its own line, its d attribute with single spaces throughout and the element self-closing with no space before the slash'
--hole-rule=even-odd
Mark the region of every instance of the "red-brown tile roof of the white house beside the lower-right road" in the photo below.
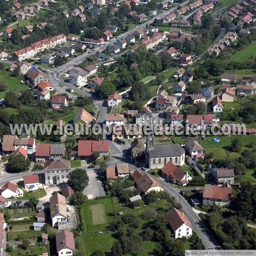
<svg viewBox="0 0 256 256">
<path fill-rule="evenodd" d="M 184 216 L 183 212 L 180 212 L 178 209 L 173 208 L 167 215 L 166 220 L 169 222 L 172 230 L 175 232 L 180 228 L 184 223 L 192 228 L 189 220 Z"/>
</svg>

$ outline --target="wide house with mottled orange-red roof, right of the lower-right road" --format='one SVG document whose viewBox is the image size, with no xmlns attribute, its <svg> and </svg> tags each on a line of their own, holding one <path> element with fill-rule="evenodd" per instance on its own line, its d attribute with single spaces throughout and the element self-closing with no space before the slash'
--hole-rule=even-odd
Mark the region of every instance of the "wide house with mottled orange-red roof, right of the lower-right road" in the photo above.
<svg viewBox="0 0 256 256">
<path fill-rule="evenodd" d="M 217 204 L 218 206 L 229 207 L 232 197 L 232 188 L 205 185 L 203 193 L 203 205 Z"/>
</svg>

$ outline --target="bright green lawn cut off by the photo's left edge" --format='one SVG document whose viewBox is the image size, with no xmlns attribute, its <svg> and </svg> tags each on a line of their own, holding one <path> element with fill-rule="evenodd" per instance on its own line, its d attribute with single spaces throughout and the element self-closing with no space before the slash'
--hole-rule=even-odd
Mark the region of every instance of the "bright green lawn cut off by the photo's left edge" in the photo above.
<svg viewBox="0 0 256 256">
<path fill-rule="evenodd" d="M 0 70 L 0 81 L 8 86 L 8 89 L 0 92 L 0 99 L 3 99 L 7 91 L 23 91 L 27 90 L 28 86 L 20 84 L 20 79 L 12 76 L 12 73 L 6 70 Z"/>
</svg>

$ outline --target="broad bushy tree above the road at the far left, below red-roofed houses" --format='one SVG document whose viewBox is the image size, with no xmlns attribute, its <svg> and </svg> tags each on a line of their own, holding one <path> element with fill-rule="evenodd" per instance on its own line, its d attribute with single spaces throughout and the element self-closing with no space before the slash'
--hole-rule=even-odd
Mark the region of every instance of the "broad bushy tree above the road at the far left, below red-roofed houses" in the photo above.
<svg viewBox="0 0 256 256">
<path fill-rule="evenodd" d="M 25 158 L 22 154 L 12 154 L 6 164 L 6 171 L 12 173 L 25 172 L 29 169 L 29 166 L 29 158 Z"/>
</svg>

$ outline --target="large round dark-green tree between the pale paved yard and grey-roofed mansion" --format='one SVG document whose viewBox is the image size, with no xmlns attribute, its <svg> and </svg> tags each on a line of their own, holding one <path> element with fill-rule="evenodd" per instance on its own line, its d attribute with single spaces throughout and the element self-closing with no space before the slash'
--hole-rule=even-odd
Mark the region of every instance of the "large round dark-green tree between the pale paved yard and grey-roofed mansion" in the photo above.
<svg viewBox="0 0 256 256">
<path fill-rule="evenodd" d="M 68 184 L 75 191 L 83 191 L 89 183 L 89 176 L 87 175 L 86 170 L 77 168 L 70 172 L 68 178 Z"/>
</svg>

